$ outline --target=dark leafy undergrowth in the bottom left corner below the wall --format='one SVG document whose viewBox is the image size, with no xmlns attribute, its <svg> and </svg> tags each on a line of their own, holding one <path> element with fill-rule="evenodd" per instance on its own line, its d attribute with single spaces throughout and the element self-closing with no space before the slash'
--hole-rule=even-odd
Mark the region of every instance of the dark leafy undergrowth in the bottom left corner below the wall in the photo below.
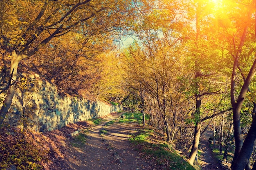
<svg viewBox="0 0 256 170">
<path fill-rule="evenodd" d="M 47 151 L 38 149 L 28 130 L 2 127 L 0 129 L 1 170 L 15 166 L 17 170 L 40 170 L 39 162 Z"/>
</svg>

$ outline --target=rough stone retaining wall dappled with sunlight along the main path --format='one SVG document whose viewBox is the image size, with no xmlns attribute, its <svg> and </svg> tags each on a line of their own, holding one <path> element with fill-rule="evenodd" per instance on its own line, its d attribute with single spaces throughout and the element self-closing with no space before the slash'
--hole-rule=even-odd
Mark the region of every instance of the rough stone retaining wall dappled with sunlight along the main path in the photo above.
<svg viewBox="0 0 256 170">
<path fill-rule="evenodd" d="M 123 109 L 122 105 L 110 105 L 100 100 L 60 96 L 56 86 L 39 78 L 37 74 L 23 76 L 28 77 L 23 78 L 27 82 L 27 89 L 17 89 L 9 113 L 4 119 L 11 126 L 22 127 L 27 124 L 34 131 L 52 131 L 70 123 L 105 116 Z"/>
</svg>

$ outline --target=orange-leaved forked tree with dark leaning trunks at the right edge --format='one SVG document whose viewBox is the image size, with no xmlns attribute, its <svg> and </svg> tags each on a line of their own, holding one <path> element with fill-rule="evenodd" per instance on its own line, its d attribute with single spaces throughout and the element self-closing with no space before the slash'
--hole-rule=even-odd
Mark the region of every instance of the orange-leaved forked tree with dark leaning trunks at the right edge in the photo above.
<svg viewBox="0 0 256 170">
<path fill-rule="evenodd" d="M 236 43 L 234 43 L 234 49 L 231 51 L 232 56 L 234 57 L 234 64 L 233 64 L 233 71 L 232 71 L 232 79 L 231 79 L 231 104 L 233 107 L 233 120 L 234 120 L 234 138 L 235 138 L 235 154 L 232 162 L 232 169 L 235 170 L 242 170 L 245 168 L 245 166 L 248 166 L 249 158 L 252 154 L 252 149 L 254 146 L 254 141 L 256 139 L 255 137 L 255 124 L 256 120 L 255 118 L 252 121 L 251 127 L 249 129 L 249 132 L 247 134 L 247 137 L 245 138 L 245 141 L 243 142 L 243 134 L 241 133 L 241 109 L 243 107 L 243 103 L 245 102 L 246 94 L 248 92 L 248 88 L 250 83 L 252 82 L 255 73 L 256 73 L 256 60 L 254 59 L 254 56 L 251 52 L 245 50 L 244 45 L 246 44 L 246 38 L 250 37 L 253 38 L 255 41 L 255 34 L 254 36 L 250 36 L 253 34 L 248 34 L 252 32 L 252 24 L 254 23 L 253 20 L 255 18 L 252 18 L 252 13 L 255 12 L 255 3 L 251 1 L 244 2 L 243 7 L 240 6 L 240 4 L 237 4 L 238 10 L 240 11 L 243 8 L 243 15 L 240 15 L 238 18 L 235 18 L 234 24 L 237 26 L 237 28 L 243 28 L 243 29 L 235 29 L 236 34 L 239 34 L 240 37 L 237 38 Z M 246 9 L 246 10 L 245 10 Z M 242 19 L 243 18 L 243 19 Z M 254 31 L 256 30 L 253 28 Z M 249 43 L 249 50 L 251 50 L 250 47 L 254 46 L 252 43 Z M 249 72 L 247 72 L 247 76 L 244 79 L 243 86 L 238 91 L 238 96 L 236 96 L 236 79 L 238 77 L 238 71 L 241 71 L 240 63 L 242 56 L 247 56 L 248 59 L 252 62 L 252 66 L 249 69 Z"/>
</svg>

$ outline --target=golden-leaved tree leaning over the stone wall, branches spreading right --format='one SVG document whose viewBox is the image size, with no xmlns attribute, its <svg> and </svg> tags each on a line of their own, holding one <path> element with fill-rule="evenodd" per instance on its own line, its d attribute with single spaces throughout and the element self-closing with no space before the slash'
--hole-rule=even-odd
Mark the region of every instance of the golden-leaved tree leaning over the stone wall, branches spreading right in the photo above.
<svg viewBox="0 0 256 170">
<path fill-rule="evenodd" d="M 20 61 L 33 56 L 50 40 L 74 30 L 90 35 L 115 33 L 124 25 L 121 18 L 130 15 L 133 6 L 132 2 L 121 0 L 4 0 L 1 5 L 7 9 L 6 15 L 1 16 L 1 48 L 5 44 L 8 46 L 11 82 L 17 79 Z M 7 114 L 14 93 L 15 87 L 11 85 L 1 109 L 0 124 Z"/>
</svg>

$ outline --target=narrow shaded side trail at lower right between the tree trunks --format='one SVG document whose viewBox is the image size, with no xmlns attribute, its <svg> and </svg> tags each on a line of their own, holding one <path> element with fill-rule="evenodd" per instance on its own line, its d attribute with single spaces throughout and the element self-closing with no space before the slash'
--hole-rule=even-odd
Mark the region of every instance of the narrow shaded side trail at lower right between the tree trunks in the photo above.
<svg viewBox="0 0 256 170">
<path fill-rule="evenodd" d="M 207 131 L 203 133 L 200 140 L 199 150 L 201 154 L 199 156 L 199 163 L 202 166 L 202 170 L 225 170 L 221 165 L 221 162 L 216 160 L 213 156 L 212 149 L 210 148 L 208 141 L 209 138 L 212 138 L 212 131 L 208 127 Z"/>
</svg>

